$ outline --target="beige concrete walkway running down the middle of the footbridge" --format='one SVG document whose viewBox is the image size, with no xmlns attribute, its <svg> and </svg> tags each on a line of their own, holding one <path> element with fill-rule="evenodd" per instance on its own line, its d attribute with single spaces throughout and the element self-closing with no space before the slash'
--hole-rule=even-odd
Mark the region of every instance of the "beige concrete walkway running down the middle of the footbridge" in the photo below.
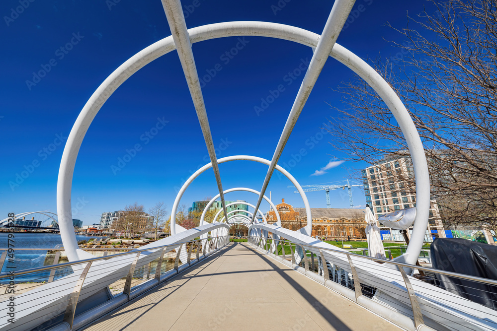
<svg viewBox="0 0 497 331">
<path fill-rule="evenodd" d="M 87 331 L 401 330 L 328 288 L 230 243 Z"/>
</svg>

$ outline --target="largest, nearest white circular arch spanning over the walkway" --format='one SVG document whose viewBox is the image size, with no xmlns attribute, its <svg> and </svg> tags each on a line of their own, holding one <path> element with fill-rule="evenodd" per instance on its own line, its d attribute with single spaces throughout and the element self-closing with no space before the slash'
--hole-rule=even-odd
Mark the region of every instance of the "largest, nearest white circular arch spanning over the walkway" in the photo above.
<svg viewBox="0 0 497 331">
<path fill-rule="evenodd" d="M 188 35 L 191 43 L 230 36 L 265 36 L 294 41 L 311 48 L 316 48 L 320 38 L 319 34 L 294 26 L 255 21 L 223 22 L 203 25 L 188 29 Z M 102 105 L 126 79 L 143 66 L 174 49 L 173 38 L 169 36 L 135 54 L 114 70 L 100 84 L 76 119 L 64 148 L 57 183 L 57 211 L 60 232 L 69 261 L 78 260 L 78 245 L 74 231 L 72 231 L 71 189 L 76 158 L 84 135 Z M 379 94 L 389 107 L 406 137 L 414 166 L 417 217 L 414 222 L 410 245 L 401 260 L 414 264 L 423 245 L 430 206 L 428 166 L 419 134 L 404 104 L 378 72 L 339 44 L 334 44 L 330 56 L 352 69 Z M 312 218 L 308 205 L 306 205 L 306 211 L 308 212 L 308 227 L 310 227 L 308 230 L 310 233 Z M 174 225 L 171 226 L 171 233 L 175 233 L 175 219 L 171 214 L 171 223 L 173 222 Z"/>
</svg>

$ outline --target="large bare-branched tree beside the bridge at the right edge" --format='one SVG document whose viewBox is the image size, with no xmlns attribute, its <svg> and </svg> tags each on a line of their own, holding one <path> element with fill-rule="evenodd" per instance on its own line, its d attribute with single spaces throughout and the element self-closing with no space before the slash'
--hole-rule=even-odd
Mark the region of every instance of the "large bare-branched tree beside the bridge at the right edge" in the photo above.
<svg viewBox="0 0 497 331">
<path fill-rule="evenodd" d="M 402 57 L 373 65 L 418 129 L 443 221 L 496 231 L 497 1 L 430 2 L 397 30 Z M 334 147 L 353 161 L 406 156 L 404 135 L 369 85 L 354 79 L 339 91 L 345 107 L 329 123 Z M 414 178 L 402 180 L 414 190 Z"/>
</svg>

